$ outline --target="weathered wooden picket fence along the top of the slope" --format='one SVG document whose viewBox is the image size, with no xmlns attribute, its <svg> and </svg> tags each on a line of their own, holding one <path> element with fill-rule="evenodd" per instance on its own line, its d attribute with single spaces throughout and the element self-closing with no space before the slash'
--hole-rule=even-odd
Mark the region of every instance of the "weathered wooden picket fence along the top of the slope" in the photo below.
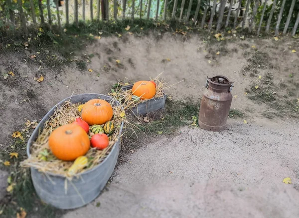
<svg viewBox="0 0 299 218">
<path fill-rule="evenodd" d="M 269 32 L 273 29 L 275 36 L 278 36 L 281 30 L 283 34 L 290 32 L 294 36 L 299 25 L 299 10 L 294 10 L 295 7 L 299 8 L 299 0 L 197 0 L 197 3 L 196 0 L 180 0 L 180 5 L 178 5 L 178 0 L 2 1 L 5 2 L 4 7 L 0 10 L 0 24 L 2 23 L 2 26 L 5 23 L 14 26 L 21 25 L 25 34 L 28 33 L 28 25 L 37 27 L 46 22 L 52 25 L 55 21 L 62 28 L 64 23 L 74 22 L 78 25 L 79 19 L 98 21 L 123 18 L 132 20 L 137 18 L 176 19 L 187 23 L 187 25 L 195 25 L 208 30 L 215 29 L 216 31 L 224 27 L 239 27 L 259 35 L 261 30 Z M 290 2 L 289 12 L 285 11 L 286 1 Z M 13 3 L 17 5 L 14 9 L 11 8 Z M 29 3 L 30 11 L 27 14 L 24 12 L 24 3 Z M 61 4 L 64 5 L 59 6 Z M 35 9 L 35 5 L 38 5 L 38 9 Z M 53 8 L 55 7 L 54 15 Z M 283 17 L 285 18 L 282 22 Z M 55 20 L 53 20 L 54 18 Z M 17 23 L 17 19 L 19 23 Z M 291 20 L 293 26 L 290 26 Z"/>
</svg>

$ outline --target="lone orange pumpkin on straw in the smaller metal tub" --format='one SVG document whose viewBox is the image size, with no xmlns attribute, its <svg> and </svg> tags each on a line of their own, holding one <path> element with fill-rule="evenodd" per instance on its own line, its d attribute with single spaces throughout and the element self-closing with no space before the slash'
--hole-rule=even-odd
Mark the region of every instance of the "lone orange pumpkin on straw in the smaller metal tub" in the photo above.
<svg viewBox="0 0 299 218">
<path fill-rule="evenodd" d="M 156 93 L 153 83 L 149 81 L 136 82 L 132 88 L 132 95 L 140 97 L 140 99 L 151 99 Z"/>
</svg>

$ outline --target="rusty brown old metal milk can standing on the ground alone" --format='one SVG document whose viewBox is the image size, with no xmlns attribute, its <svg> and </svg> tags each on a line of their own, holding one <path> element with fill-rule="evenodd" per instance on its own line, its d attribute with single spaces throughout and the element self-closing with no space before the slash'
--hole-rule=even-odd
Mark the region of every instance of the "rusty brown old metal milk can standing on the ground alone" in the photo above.
<svg viewBox="0 0 299 218">
<path fill-rule="evenodd" d="M 232 104 L 233 82 L 224 76 L 207 79 L 199 109 L 198 125 L 206 130 L 224 130 Z"/>
</svg>

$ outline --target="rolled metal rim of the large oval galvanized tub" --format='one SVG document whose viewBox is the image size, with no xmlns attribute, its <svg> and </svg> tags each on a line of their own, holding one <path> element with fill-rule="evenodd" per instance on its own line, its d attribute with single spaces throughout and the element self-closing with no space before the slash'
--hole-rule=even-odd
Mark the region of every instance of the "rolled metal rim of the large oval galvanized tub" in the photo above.
<svg viewBox="0 0 299 218">
<path fill-rule="evenodd" d="M 51 112 L 52 109 L 59 107 L 60 104 L 63 104 L 65 101 L 70 101 L 71 98 L 74 98 L 74 97 L 76 97 L 76 96 L 82 96 L 82 95 L 96 95 L 96 96 L 98 96 L 98 97 L 102 96 L 102 97 L 108 98 L 109 100 L 112 100 L 112 98 L 111 98 L 110 96 L 106 96 L 106 95 L 102 95 L 102 94 L 96 94 L 96 93 L 86 93 L 86 94 L 74 95 L 74 96 L 65 98 L 64 100 L 62 100 L 62 101 L 60 101 L 58 104 L 56 104 L 53 108 L 51 108 L 51 109 L 47 112 L 47 114 L 44 115 L 44 117 L 40 120 L 39 124 L 42 123 L 43 121 L 44 121 L 44 122 L 47 121 L 47 120 L 50 118 L 49 114 L 50 114 L 50 112 Z M 105 101 L 106 101 L 106 100 L 105 100 Z M 123 106 L 122 106 L 118 101 L 115 101 L 115 102 L 117 103 L 118 106 L 121 106 L 122 109 L 124 109 Z M 31 135 L 33 135 L 33 134 L 35 134 L 36 132 L 38 132 L 39 129 L 40 129 L 41 127 L 42 127 L 41 130 L 43 129 L 43 125 L 44 125 L 44 123 L 42 124 L 42 126 L 39 126 L 39 124 L 38 124 L 37 127 L 34 129 L 34 131 L 32 132 Z M 120 133 L 119 133 L 119 135 L 118 135 L 118 140 L 120 140 L 120 137 L 121 137 L 121 135 L 122 135 L 123 126 L 124 126 L 124 121 L 122 121 L 122 124 L 121 124 Z M 35 137 L 35 138 L 33 139 L 33 138 L 30 137 L 29 140 L 28 140 L 28 142 L 27 142 L 26 153 L 27 153 L 27 156 L 28 156 L 28 157 L 30 157 L 30 147 L 31 147 L 32 143 L 36 140 L 36 138 L 37 138 L 37 137 Z M 117 141 L 116 141 L 115 143 L 117 143 Z M 115 145 L 115 144 L 114 144 L 114 145 Z M 112 151 L 113 151 L 114 149 L 116 149 L 116 146 L 114 146 L 114 145 L 113 145 L 113 147 L 111 148 L 110 153 L 106 156 L 106 158 L 105 158 L 100 164 L 98 164 L 97 166 L 93 167 L 92 169 L 86 170 L 86 171 L 84 171 L 84 172 L 82 172 L 82 173 L 78 173 L 78 174 L 76 174 L 76 176 L 80 176 L 80 175 L 84 175 L 84 174 L 90 173 L 90 172 L 96 170 L 97 168 L 99 168 L 102 164 L 104 164 L 104 162 L 107 161 L 107 159 L 111 156 Z M 34 168 L 34 167 L 33 167 L 33 168 Z M 35 168 L 35 169 L 36 169 L 36 168 Z M 36 169 L 36 170 L 38 170 L 38 169 Z M 39 172 L 40 172 L 40 171 L 39 171 Z M 42 173 L 47 173 L 48 175 L 51 175 L 51 176 L 58 176 L 58 177 L 66 178 L 65 176 L 62 176 L 62 175 L 60 175 L 60 174 L 55 174 L 55 173 L 51 173 L 51 172 L 48 172 L 48 171 L 45 171 L 45 172 L 42 172 Z"/>
</svg>

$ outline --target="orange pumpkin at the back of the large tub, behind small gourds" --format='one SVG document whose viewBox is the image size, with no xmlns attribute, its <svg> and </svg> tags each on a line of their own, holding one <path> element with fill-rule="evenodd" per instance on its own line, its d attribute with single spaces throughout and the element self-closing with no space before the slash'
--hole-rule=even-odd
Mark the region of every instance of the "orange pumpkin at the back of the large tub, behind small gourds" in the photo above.
<svg viewBox="0 0 299 218">
<path fill-rule="evenodd" d="M 81 117 L 89 125 L 102 125 L 111 120 L 113 109 L 105 100 L 92 99 L 84 104 Z"/>
</svg>

